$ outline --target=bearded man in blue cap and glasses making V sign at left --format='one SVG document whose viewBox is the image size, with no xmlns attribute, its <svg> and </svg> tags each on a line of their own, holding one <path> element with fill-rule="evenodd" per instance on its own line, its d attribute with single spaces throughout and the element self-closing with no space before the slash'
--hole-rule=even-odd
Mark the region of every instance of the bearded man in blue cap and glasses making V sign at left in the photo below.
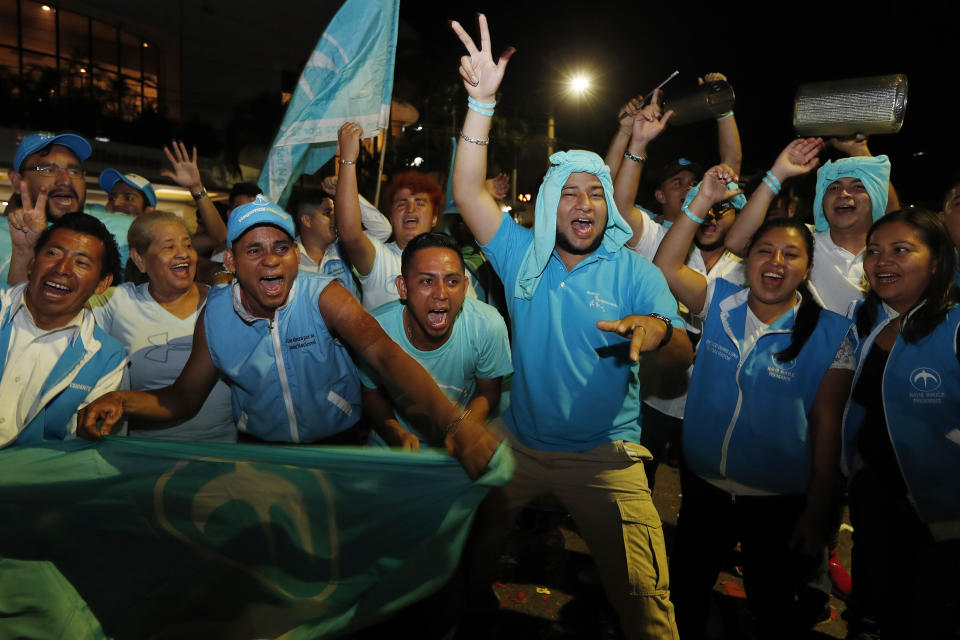
<svg viewBox="0 0 960 640">
<path fill-rule="evenodd" d="M 0 218 L 0 282 L 26 280 L 27 264 L 47 223 L 83 212 L 87 184 L 82 162 L 91 151 L 89 142 L 72 133 L 34 133 L 17 146 L 8 174 L 14 196 L 7 217 Z M 133 218 L 102 210 L 90 215 L 116 238 L 121 264 L 126 264 Z"/>
</svg>

